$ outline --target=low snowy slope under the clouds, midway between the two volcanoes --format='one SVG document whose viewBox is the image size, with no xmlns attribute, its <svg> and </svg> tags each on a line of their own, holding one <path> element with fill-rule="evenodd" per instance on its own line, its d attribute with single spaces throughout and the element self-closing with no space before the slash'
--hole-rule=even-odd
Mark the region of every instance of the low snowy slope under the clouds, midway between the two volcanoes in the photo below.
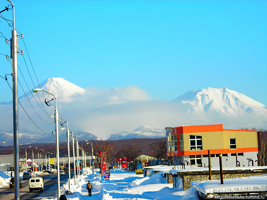
<svg viewBox="0 0 267 200">
<path fill-rule="evenodd" d="M 132 131 L 123 131 L 117 134 L 112 134 L 109 140 L 123 140 L 131 138 L 161 138 L 166 137 L 166 132 L 163 129 L 153 128 L 149 126 L 139 126 Z"/>
</svg>

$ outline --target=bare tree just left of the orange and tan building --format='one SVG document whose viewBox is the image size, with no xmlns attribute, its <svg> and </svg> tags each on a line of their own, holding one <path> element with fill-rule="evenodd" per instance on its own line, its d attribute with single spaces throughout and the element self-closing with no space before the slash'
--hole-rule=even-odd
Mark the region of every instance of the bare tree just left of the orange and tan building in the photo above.
<svg viewBox="0 0 267 200">
<path fill-rule="evenodd" d="M 161 164 L 161 161 L 166 161 L 166 142 L 158 141 L 150 145 L 155 157 L 155 165 Z"/>
</svg>

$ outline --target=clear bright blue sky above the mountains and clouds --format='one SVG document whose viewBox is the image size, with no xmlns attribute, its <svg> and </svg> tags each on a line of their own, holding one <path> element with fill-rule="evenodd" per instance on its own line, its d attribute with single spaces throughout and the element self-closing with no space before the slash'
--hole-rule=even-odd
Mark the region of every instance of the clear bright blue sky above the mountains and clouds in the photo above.
<svg viewBox="0 0 267 200">
<path fill-rule="evenodd" d="M 161 100 L 225 86 L 267 105 L 267 1 L 13 3 L 15 28 L 24 35 L 40 83 L 63 77 L 82 88 L 136 85 Z M 0 10 L 7 5 L 1 1 Z M 1 14 L 12 19 L 12 12 Z M 11 37 L 3 19 L 0 31 Z M 21 39 L 19 48 L 37 85 Z M 4 38 L 0 53 L 10 54 Z M 12 71 L 4 55 L 1 76 Z M 20 55 L 18 65 L 32 89 Z M 18 77 L 27 91 L 20 72 Z M 0 102 L 12 100 L 4 79 L 0 88 Z"/>
</svg>

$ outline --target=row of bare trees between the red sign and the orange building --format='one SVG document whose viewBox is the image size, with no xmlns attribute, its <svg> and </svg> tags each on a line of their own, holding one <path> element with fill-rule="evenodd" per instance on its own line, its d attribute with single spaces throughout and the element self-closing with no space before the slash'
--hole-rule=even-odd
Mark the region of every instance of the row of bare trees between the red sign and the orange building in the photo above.
<svg viewBox="0 0 267 200">
<path fill-rule="evenodd" d="M 94 156 L 96 157 L 96 161 L 98 162 L 98 166 L 100 168 L 100 173 L 103 168 L 103 164 L 106 162 L 107 167 L 109 165 L 116 164 L 116 158 L 118 157 L 126 157 L 125 161 L 128 166 L 135 170 L 138 164 L 137 157 L 140 156 L 141 150 L 138 146 L 135 145 L 127 145 L 124 149 L 116 148 L 110 141 L 98 140 L 94 143 L 95 150 Z M 155 157 L 155 165 L 161 164 L 161 161 L 167 161 L 166 158 L 166 142 L 155 142 L 150 145 L 151 156 Z M 106 158 L 104 158 L 104 154 L 101 152 L 106 152 Z M 102 156 L 101 156 L 102 155 Z"/>
</svg>

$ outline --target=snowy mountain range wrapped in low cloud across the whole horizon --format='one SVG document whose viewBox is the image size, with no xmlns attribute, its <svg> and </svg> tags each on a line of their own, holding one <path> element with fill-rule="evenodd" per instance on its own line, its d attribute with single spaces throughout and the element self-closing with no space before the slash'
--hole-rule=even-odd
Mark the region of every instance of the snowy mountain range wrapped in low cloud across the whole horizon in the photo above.
<svg viewBox="0 0 267 200">
<path fill-rule="evenodd" d="M 224 128 L 228 129 L 266 128 L 266 106 L 225 87 L 193 90 L 170 101 L 153 100 L 137 86 L 82 89 L 65 79 L 50 78 L 36 86 L 39 87 L 57 97 L 60 116 L 69 121 L 69 129 L 74 134 L 80 133 L 80 140 L 164 137 L 165 127 L 182 125 L 224 124 Z M 27 97 L 19 99 L 36 125 L 19 106 L 19 132 L 26 137 L 23 141 L 53 141 L 55 127 L 50 116 L 54 112 L 54 101 L 50 102 L 50 106 L 45 104 L 45 99 L 51 100 L 53 96 L 30 91 Z M 0 108 L 0 135 L 9 135 L 7 133 L 12 132 L 13 127 L 12 102 L 1 103 Z M 138 131 L 140 126 L 142 128 Z M 158 131 L 155 132 L 156 129 Z M 62 141 L 64 135 L 61 131 Z M 10 137 L 4 139 L 12 140 Z"/>
</svg>

